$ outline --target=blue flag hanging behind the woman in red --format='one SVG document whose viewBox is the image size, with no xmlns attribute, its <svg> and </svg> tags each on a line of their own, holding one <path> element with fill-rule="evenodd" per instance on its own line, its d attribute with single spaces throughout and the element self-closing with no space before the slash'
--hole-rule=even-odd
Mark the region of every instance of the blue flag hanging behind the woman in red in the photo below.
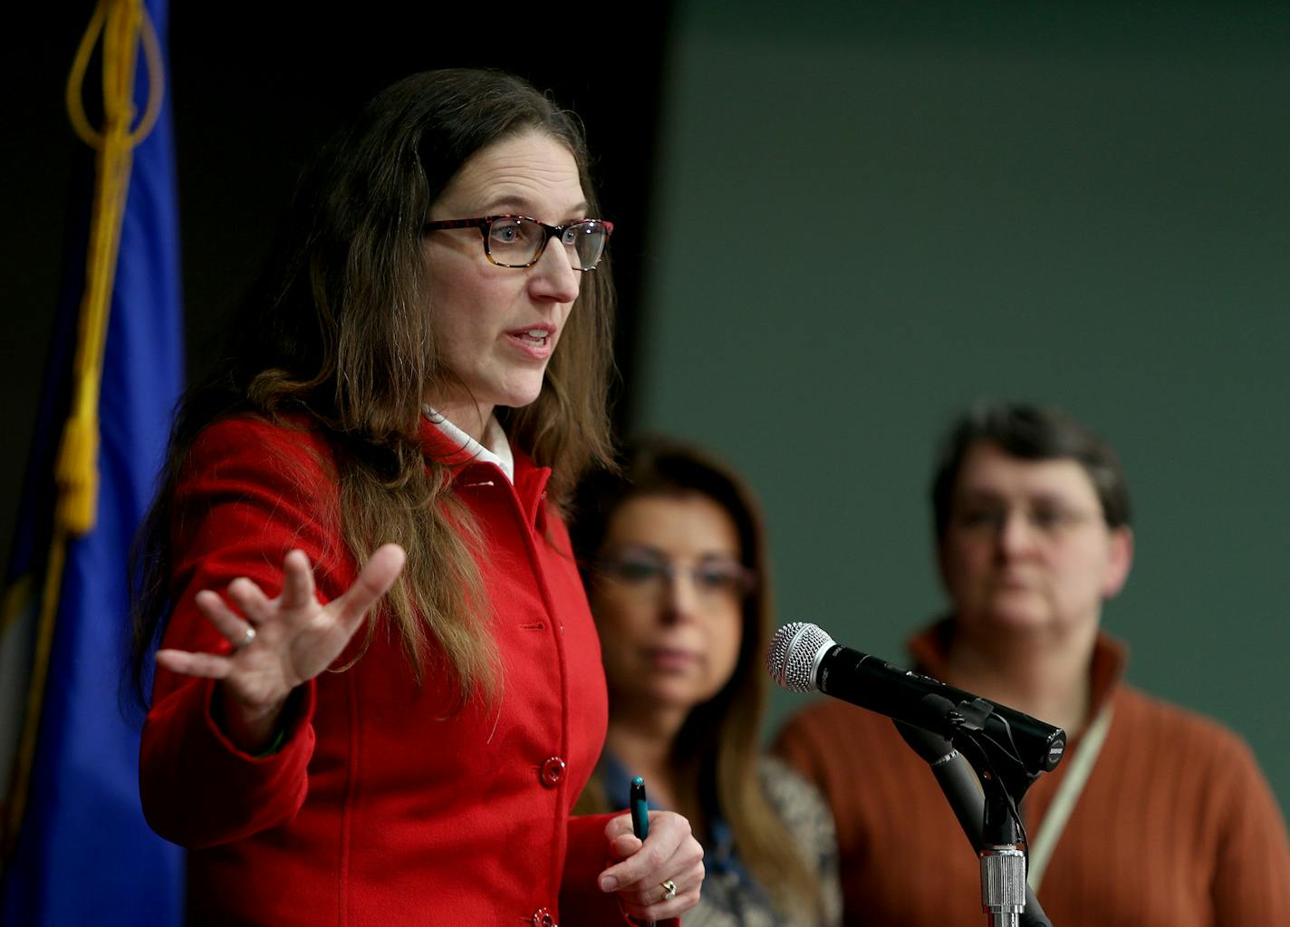
<svg viewBox="0 0 1290 927">
<path fill-rule="evenodd" d="M 137 114 L 146 112 L 150 92 L 156 94 L 155 81 L 165 85 L 165 74 L 155 71 L 157 66 L 165 70 L 166 4 L 147 0 L 146 6 L 160 57 L 143 53 L 147 41 L 141 45 L 133 90 Z M 104 46 L 103 57 L 108 54 Z M 86 88 L 95 85 L 86 79 Z M 135 116 L 135 124 L 141 119 Z M 15 755 L 5 807 L 9 846 L 0 909 L 5 924 L 172 927 L 183 919 L 183 855 L 143 820 L 141 719 L 128 717 L 120 697 L 128 658 L 129 551 L 156 489 L 183 380 L 179 223 L 168 98 L 151 130 L 132 145 L 124 208 L 120 198 L 115 205 L 120 243 L 106 340 L 101 342 L 93 527 L 67 536 L 61 569 L 48 562 L 52 547 L 58 546 L 50 544 L 58 535 L 52 527 L 55 445 L 77 389 L 76 351 L 64 342 L 52 352 L 41 414 L 55 421 L 43 422 L 46 434 L 37 435 L 32 452 L 8 577 L 0 649 L 8 682 L 0 698 L 21 702 L 17 714 L 26 719 L 35 740 L 28 742 L 34 749 L 26 757 L 12 745 L 4 757 Z M 84 254 L 79 260 L 83 267 Z M 70 271 L 84 272 L 80 267 Z M 55 325 L 55 337 L 84 338 L 84 309 L 71 300 L 67 310 L 70 318 Z M 46 576 L 58 578 L 46 587 Z M 43 608 L 45 657 L 39 643 Z M 32 670 L 43 661 L 43 673 Z M 13 684 L 19 675 L 37 683 L 44 675 L 44 684 Z M 14 714 L 13 704 L 3 708 Z M 15 800 L 18 780 L 26 788 Z"/>
</svg>

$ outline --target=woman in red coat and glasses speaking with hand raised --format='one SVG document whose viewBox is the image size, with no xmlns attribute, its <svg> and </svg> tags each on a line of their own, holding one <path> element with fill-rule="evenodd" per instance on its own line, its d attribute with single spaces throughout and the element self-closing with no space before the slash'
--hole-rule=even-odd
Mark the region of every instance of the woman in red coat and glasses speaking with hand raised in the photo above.
<svg viewBox="0 0 1290 927">
<path fill-rule="evenodd" d="M 570 816 L 606 724 L 561 520 L 608 457 L 597 214 L 577 123 L 497 72 L 395 84 L 306 174 L 142 545 L 141 789 L 190 922 L 698 900 L 685 819 Z"/>
</svg>

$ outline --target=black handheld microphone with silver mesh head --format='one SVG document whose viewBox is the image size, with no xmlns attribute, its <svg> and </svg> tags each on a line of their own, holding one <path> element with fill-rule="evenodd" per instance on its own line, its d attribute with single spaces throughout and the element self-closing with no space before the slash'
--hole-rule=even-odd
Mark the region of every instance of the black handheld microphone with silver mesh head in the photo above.
<svg viewBox="0 0 1290 927">
<path fill-rule="evenodd" d="M 842 647 L 811 624 L 795 621 L 777 630 L 766 669 L 789 692 L 818 689 L 951 741 L 964 732 L 983 732 L 1029 779 L 1057 767 L 1066 751 L 1062 728 Z"/>
</svg>

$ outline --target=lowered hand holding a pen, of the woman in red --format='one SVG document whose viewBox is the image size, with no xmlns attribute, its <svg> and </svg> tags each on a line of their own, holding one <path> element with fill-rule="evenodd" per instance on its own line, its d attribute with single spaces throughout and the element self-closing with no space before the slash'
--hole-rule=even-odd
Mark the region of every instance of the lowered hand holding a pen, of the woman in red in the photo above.
<svg viewBox="0 0 1290 927">
<path fill-rule="evenodd" d="M 600 874 L 600 890 L 618 892 L 630 917 L 664 921 L 699 902 L 703 847 L 684 817 L 671 811 L 649 812 L 649 837 L 641 843 L 632 833 L 631 815 L 619 815 L 605 826 L 605 837 L 610 855 L 622 862 Z M 672 887 L 676 892 L 668 897 Z"/>
</svg>

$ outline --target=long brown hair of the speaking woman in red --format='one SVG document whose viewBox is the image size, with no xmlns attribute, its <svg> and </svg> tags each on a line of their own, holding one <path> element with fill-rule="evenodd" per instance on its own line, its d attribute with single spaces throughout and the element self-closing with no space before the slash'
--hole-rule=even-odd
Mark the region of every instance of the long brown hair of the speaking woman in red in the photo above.
<svg viewBox="0 0 1290 927">
<path fill-rule="evenodd" d="M 477 533 L 450 492 L 448 466 L 427 460 L 418 439 L 424 396 L 453 380 L 431 324 L 422 223 L 476 152 L 533 130 L 569 148 L 590 214 L 599 216 L 577 119 L 498 71 L 430 71 L 393 84 L 304 172 L 275 262 L 237 325 L 245 337 L 175 418 L 161 491 L 135 549 L 132 669 L 141 696 L 172 604 L 169 532 L 183 462 L 201 429 L 245 413 L 303 420 L 324 433 L 344 540 L 360 565 L 386 541 L 408 551 L 387 602 L 417 679 L 432 640 L 444 664 L 436 671 L 455 674 L 461 704 L 495 693 Z M 511 440 L 552 467 L 548 498 L 561 510 L 582 471 L 609 460 L 613 309 L 606 258 L 582 280 L 538 399 L 499 411 Z M 375 624 L 368 622 L 369 640 Z"/>
</svg>

